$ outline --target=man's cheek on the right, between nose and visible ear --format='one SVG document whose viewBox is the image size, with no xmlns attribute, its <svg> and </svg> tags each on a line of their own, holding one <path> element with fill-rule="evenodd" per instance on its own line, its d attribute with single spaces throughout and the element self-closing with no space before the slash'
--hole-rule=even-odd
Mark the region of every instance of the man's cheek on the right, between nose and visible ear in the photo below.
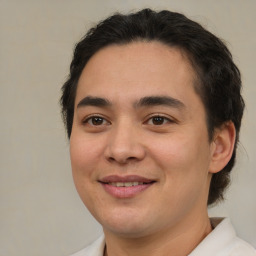
<svg viewBox="0 0 256 256">
<path fill-rule="evenodd" d="M 162 138 L 157 147 L 152 147 L 152 156 L 158 165 L 165 170 L 165 175 L 174 179 L 196 177 L 197 174 L 206 174 L 210 162 L 210 145 L 207 134 L 189 136 L 175 134 Z M 183 180 L 184 181 L 184 180 Z"/>
</svg>

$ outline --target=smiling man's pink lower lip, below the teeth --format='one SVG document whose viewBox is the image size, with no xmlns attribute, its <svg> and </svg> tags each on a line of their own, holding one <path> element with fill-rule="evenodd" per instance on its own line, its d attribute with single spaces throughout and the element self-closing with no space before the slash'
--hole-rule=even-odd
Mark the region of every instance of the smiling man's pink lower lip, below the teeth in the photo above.
<svg viewBox="0 0 256 256">
<path fill-rule="evenodd" d="M 131 198 L 151 187 L 154 183 L 131 186 L 115 187 L 109 184 L 101 183 L 107 193 L 116 198 Z"/>
</svg>

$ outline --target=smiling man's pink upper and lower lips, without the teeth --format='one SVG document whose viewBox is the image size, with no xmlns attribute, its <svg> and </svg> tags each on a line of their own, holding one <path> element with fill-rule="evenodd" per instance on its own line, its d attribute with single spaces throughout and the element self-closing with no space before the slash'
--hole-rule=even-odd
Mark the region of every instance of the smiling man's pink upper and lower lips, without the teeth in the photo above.
<svg viewBox="0 0 256 256">
<path fill-rule="evenodd" d="M 110 175 L 99 180 L 104 190 L 115 198 L 133 198 L 138 194 L 141 194 L 145 190 L 149 189 L 156 182 L 155 180 L 148 179 L 138 175 L 118 176 Z M 145 184 L 139 184 L 130 187 L 116 187 L 109 183 L 115 182 L 140 182 Z"/>
</svg>

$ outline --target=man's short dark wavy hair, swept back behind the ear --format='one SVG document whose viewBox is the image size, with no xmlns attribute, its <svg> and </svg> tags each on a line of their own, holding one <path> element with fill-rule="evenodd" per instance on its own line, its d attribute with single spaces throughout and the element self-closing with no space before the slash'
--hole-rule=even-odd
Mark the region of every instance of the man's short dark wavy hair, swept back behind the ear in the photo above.
<svg viewBox="0 0 256 256">
<path fill-rule="evenodd" d="M 236 141 L 232 157 L 221 171 L 212 175 L 208 205 L 223 199 L 235 163 L 244 109 L 240 73 L 225 44 L 182 14 L 145 9 L 129 15 L 113 15 L 89 30 L 76 45 L 70 75 L 62 87 L 62 115 L 68 137 L 72 133 L 78 81 L 88 61 L 108 46 L 133 42 L 160 42 L 179 49 L 189 60 L 196 74 L 194 89 L 206 112 L 209 141 L 217 129 L 230 122 L 234 124 Z"/>
</svg>

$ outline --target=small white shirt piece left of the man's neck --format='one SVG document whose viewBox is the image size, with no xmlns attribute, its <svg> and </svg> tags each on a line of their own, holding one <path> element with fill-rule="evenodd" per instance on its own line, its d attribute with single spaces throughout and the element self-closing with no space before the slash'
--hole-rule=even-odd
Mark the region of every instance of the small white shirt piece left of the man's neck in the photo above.
<svg viewBox="0 0 256 256">
<path fill-rule="evenodd" d="M 70 256 L 103 256 L 104 248 L 105 248 L 105 238 L 102 235 L 86 248 Z"/>
</svg>

